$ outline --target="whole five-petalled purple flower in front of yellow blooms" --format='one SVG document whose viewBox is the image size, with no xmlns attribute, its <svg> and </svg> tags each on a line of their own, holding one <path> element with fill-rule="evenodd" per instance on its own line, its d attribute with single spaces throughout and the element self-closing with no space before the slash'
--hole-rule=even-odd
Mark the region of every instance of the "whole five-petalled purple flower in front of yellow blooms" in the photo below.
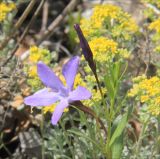
<svg viewBox="0 0 160 159">
<path fill-rule="evenodd" d="M 62 69 L 62 74 L 67 86 L 64 86 L 55 73 L 44 63 L 37 64 L 38 76 L 42 83 L 47 87 L 33 95 L 26 97 L 24 103 L 31 106 L 49 106 L 60 101 L 52 114 L 51 122 L 56 125 L 63 114 L 65 108 L 74 101 L 89 99 L 91 93 L 84 87 L 78 86 L 73 90 L 75 76 L 79 65 L 79 57 L 70 59 Z"/>
</svg>

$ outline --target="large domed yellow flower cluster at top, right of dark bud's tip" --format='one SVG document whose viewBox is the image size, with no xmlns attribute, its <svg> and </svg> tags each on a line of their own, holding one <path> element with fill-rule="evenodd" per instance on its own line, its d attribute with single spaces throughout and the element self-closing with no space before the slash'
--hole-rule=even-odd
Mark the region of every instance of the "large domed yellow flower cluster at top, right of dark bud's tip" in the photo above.
<svg viewBox="0 0 160 159">
<path fill-rule="evenodd" d="M 119 34 L 128 34 L 128 32 L 131 34 L 138 29 L 128 13 L 123 12 L 120 7 L 110 4 L 95 6 L 92 16 L 89 19 L 82 19 L 81 26 L 84 35 L 88 38 L 103 35 L 107 31 L 112 34 L 112 30 L 115 32 L 117 29 L 123 30 Z"/>
</svg>

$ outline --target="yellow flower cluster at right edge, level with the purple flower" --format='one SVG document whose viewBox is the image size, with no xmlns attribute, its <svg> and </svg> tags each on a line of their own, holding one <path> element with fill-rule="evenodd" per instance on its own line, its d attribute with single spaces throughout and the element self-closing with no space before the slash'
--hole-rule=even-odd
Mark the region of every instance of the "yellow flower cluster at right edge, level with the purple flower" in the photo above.
<svg viewBox="0 0 160 159">
<path fill-rule="evenodd" d="M 136 96 L 138 100 L 148 105 L 148 111 L 152 115 L 160 115 L 160 78 L 154 76 L 147 79 L 145 76 L 140 76 L 133 82 L 133 88 L 128 96 Z"/>
</svg>

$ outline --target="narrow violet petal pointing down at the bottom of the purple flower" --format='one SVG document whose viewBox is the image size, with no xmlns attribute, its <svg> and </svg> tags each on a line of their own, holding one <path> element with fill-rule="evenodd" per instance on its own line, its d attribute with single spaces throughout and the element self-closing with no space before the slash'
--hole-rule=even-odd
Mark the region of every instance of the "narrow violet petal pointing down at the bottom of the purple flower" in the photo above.
<svg viewBox="0 0 160 159">
<path fill-rule="evenodd" d="M 61 118 L 64 109 L 68 106 L 68 101 L 65 99 L 62 99 L 60 103 L 56 106 L 53 114 L 51 122 L 53 125 L 57 125 L 59 119 Z"/>
</svg>

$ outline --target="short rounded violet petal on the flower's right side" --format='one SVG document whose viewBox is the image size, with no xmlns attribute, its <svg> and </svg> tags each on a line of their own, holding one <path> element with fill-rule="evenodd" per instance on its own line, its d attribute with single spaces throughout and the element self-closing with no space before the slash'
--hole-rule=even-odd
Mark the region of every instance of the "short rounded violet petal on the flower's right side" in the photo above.
<svg viewBox="0 0 160 159">
<path fill-rule="evenodd" d="M 85 100 L 91 97 L 91 92 L 82 86 L 78 86 L 69 94 L 69 101 Z"/>
</svg>

